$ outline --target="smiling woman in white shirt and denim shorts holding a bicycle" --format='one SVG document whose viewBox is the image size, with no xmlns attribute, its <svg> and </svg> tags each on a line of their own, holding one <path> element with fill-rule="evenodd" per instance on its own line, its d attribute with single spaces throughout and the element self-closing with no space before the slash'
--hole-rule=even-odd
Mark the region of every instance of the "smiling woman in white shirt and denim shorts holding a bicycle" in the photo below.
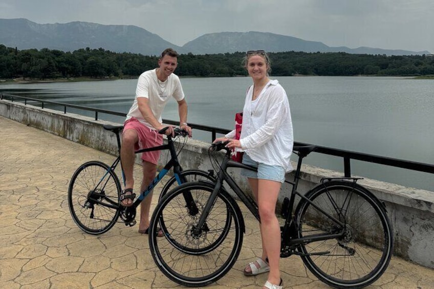
<svg viewBox="0 0 434 289">
<path fill-rule="evenodd" d="M 233 130 L 214 142 L 229 141 L 228 148 L 244 151 L 243 164 L 258 168 L 257 173 L 243 170 L 242 175 L 248 177 L 258 204 L 263 252 L 261 258 L 246 266 L 244 274 L 254 276 L 269 272 L 264 288 L 282 288 L 279 271 L 280 226 L 275 208 L 285 173 L 292 170 L 291 113 L 284 88 L 277 80 L 269 78 L 271 66 L 265 51 L 248 51 L 244 65 L 253 85 L 246 94 L 240 140 L 233 139 Z"/>
</svg>

